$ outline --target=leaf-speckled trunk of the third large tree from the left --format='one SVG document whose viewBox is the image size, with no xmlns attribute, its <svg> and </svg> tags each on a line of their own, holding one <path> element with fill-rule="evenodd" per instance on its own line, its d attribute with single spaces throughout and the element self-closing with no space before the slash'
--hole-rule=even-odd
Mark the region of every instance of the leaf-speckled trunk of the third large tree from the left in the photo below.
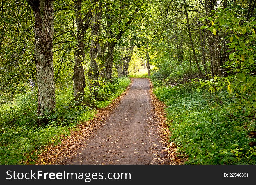
<svg viewBox="0 0 256 185">
<path fill-rule="evenodd" d="M 89 76 L 89 87 L 90 90 L 93 91 L 93 95 L 97 98 L 98 96 L 98 77 L 99 77 L 99 68 L 98 68 L 98 51 L 99 51 L 99 26 L 100 26 L 100 20 L 101 20 L 101 11 L 100 11 L 100 5 L 96 8 L 96 10 L 93 13 L 92 19 L 91 19 L 91 48 L 90 48 L 90 68 L 88 72 Z"/>
</svg>

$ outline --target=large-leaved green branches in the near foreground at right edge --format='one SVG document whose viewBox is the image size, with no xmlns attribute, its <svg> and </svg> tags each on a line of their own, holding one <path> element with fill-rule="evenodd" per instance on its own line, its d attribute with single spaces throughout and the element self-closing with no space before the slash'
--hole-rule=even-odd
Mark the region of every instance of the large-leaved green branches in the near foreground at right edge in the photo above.
<svg viewBox="0 0 256 185">
<path fill-rule="evenodd" d="M 234 111 L 244 109 L 255 111 L 256 108 L 256 21 L 252 17 L 246 21 L 236 12 L 229 9 L 218 9 L 212 19 L 213 26 L 207 28 L 223 31 L 227 37 L 230 52 L 229 60 L 222 66 L 227 70 L 227 77 L 211 77 L 210 80 L 200 79 L 201 87 L 207 86 L 210 92 L 226 89 L 229 94 L 234 92 L 239 99 Z M 199 88 L 201 88 L 199 87 Z M 198 90 L 199 90 L 198 88 Z M 253 112 L 252 112 L 253 114 Z"/>
</svg>

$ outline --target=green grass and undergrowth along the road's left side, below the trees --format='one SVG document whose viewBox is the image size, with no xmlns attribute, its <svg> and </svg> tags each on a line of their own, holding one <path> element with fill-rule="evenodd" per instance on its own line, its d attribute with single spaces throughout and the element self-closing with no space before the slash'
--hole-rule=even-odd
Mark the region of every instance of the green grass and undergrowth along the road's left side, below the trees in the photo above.
<svg viewBox="0 0 256 185">
<path fill-rule="evenodd" d="M 115 79 L 103 91 L 108 94 L 105 100 L 97 101 L 97 107 L 108 106 L 129 86 L 128 77 Z M 80 122 L 92 119 L 96 110 L 86 106 L 74 106 L 71 89 L 56 90 L 55 113 L 47 115 L 50 123 L 37 126 L 35 92 L 19 95 L 11 103 L 0 105 L 0 164 L 24 164 L 36 159 L 42 148 L 58 144 L 61 135 L 68 135 L 70 129 Z M 34 152 L 36 150 L 36 152 Z"/>
</svg>

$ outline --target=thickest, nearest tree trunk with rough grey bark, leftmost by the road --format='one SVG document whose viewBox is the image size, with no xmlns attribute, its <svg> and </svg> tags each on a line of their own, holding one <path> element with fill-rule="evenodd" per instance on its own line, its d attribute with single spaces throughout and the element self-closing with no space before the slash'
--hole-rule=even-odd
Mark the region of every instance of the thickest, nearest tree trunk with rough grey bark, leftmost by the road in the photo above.
<svg viewBox="0 0 256 185">
<path fill-rule="evenodd" d="M 35 62 L 38 86 L 37 115 L 44 116 L 55 107 L 55 85 L 53 71 L 53 0 L 27 0 L 35 16 Z M 47 123 L 48 120 L 41 120 Z"/>
</svg>

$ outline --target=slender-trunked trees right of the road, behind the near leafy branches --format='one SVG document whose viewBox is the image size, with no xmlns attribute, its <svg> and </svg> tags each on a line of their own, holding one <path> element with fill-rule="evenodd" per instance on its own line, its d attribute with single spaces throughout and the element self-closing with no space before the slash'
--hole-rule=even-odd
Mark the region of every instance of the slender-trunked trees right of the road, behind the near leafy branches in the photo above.
<svg viewBox="0 0 256 185">
<path fill-rule="evenodd" d="M 155 10 L 155 30 L 152 30 L 155 51 L 175 59 L 177 63 L 192 60 L 203 76 L 225 76 L 221 70 L 229 58 L 226 33 L 203 30 L 214 24 L 214 12 L 218 8 L 230 8 L 249 21 L 255 16 L 255 1 L 161 1 Z M 153 10 L 154 11 L 154 10 Z"/>
</svg>

